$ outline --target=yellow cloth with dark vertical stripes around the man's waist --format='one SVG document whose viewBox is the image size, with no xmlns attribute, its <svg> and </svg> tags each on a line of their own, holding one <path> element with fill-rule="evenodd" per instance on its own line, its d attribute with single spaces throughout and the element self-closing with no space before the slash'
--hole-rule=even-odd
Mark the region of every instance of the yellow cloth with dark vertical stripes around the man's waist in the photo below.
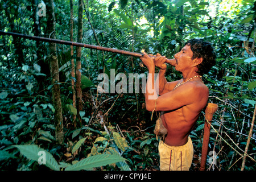
<svg viewBox="0 0 256 182">
<path fill-rule="evenodd" d="M 162 140 L 158 146 L 160 171 L 188 171 L 193 159 L 191 138 L 183 146 L 168 146 Z"/>
</svg>

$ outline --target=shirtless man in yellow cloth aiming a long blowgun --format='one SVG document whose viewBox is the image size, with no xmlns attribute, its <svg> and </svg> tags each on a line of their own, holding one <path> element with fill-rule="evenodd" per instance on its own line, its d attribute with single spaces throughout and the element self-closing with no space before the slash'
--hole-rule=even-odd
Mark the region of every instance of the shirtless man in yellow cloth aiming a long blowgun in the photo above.
<svg viewBox="0 0 256 182">
<path fill-rule="evenodd" d="M 160 118 L 168 130 L 159 142 L 160 170 L 189 170 L 193 159 L 193 144 L 189 137 L 201 110 L 207 105 L 209 89 L 201 80 L 215 64 L 213 48 L 203 39 L 191 39 L 176 53 L 175 69 L 182 73 L 181 80 L 167 82 L 164 77 L 166 57 L 159 53 L 153 60 L 147 53 L 141 60 L 148 68 L 145 93 L 148 111 L 163 111 Z M 155 67 L 160 68 L 156 88 Z M 159 95 L 158 96 L 158 92 Z"/>
</svg>

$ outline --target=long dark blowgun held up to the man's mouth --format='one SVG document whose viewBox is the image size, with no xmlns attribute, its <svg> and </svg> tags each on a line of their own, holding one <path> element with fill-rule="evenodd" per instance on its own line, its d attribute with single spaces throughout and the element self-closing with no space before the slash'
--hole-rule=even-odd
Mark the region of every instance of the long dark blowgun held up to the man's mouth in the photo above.
<svg viewBox="0 0 256 182">
<path fill-rule="evenodd" d="M 77 42 L 71 42 L 71 41 L 65 41 L 65 40 L 59 40 L 59 39 L 50 39 L 50 38 L 43 38 L 43 37 L 39 37 L 39 36 L 30 36 L 30 35 L 26 35 L 26 34 L 18 34 L 15 32 L 0 31 L 0 35 L 12 35 L 12 36 L 18 36 L 18 37 L 21 37 L 24 39 L 43 41 L 43 42 L 52 42 L 52 43 L 57 43 L 57 44 L 65 44 L 65 45 L 69 45 L 69 46 L 85 47 L 85 48 L 97 49 L 97 50 L 106 51 L 106 52 L 119 53 L 121 55 L 128 55 L 128 56 L 134 56 L 134 57 L 143 57 L 142 53 L 123 51 L 123 50 L 108 48 L 108 47 L 93 46 L 90 44 L 83 44 L 83 43 L 77 43 Z M 156 56 L 150 56 L 150 57 L 154 58 Z M 166 63 L 175 65 L 175 59 L 167 59 Z"/>
</svg>

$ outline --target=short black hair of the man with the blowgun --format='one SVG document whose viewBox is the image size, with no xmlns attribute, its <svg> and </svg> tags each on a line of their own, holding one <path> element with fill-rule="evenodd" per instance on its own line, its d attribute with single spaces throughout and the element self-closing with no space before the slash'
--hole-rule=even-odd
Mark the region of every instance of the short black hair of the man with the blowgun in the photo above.
<svg viewBox="0 0 256 182">
<path fill-rule="evenodd" d="M 197 65 L 197 73 L 201 76 L 208 73 L 210 68 L 216 64 L 216 55 L 213 51 L 212 44 L 205 42 L 204 39 L 191 39 L 185 43 L 185 45 L 190 46 L 193 52 L 193 59 L 203 58 L 201 64 Z"/>
</svg>

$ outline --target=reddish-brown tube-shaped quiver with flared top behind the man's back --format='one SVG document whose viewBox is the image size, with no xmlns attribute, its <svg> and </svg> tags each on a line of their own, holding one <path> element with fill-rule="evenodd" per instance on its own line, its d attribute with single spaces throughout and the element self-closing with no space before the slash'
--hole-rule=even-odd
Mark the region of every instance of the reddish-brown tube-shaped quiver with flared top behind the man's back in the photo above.
<svg viewBox="0 0 256 182">
<path fill-rule="evenodd" d="M 209 123 L 212 121 L 213 114 L 217 111 L 217 109 L 218 109 L 218 105 L 213 103 L 208 103 L 207 108 L 205 109 L 204 138 L 203 138 L 203 146 L 202 146 L 200 171 L 204 171 L 205 169 L 207 152 L 208 152 L 208 144 L 209 144 L 209 138 L 210 138 Z"/>
</svg>

